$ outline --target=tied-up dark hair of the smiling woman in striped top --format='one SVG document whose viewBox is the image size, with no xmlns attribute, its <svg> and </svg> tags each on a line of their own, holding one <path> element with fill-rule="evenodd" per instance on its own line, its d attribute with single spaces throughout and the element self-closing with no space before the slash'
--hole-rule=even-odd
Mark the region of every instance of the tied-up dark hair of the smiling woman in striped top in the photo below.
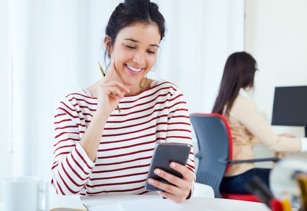
<svg viewBox="0 0 307 211">
<path fill-rule="evenodd" d="M 159 12 L 158 5 L 150 0 L 125 0 L 113 11 L 105 28 L 105 35 L 110 37 L 110 45 L 106 52 L 112 49 L 119 31 L 127 26 L 142 23 L 156 25 L 159 28 L 161 39 L 165 35 L 165 20 Z"/>
</svg>

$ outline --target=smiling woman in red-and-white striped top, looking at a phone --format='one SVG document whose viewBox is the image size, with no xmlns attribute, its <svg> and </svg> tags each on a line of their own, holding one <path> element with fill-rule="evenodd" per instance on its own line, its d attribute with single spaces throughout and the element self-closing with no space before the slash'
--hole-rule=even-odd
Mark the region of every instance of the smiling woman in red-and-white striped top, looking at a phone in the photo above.
<svg viewBox="0 0 307 211">
<path fill-rule="evenodd" d="M 164 34 L 164 18 L 150 0 L 125 0 L 116 7 L 105 30 L 105 58 L 110 61 L 105 77 L 68 94 L 56 109 L 51 184 L 57 194 L 147 193 L 155 145 L 192 145 L 179 87 L 146 77 Z M 154 172 L 174 185 L 153 178 L 149 183 L 164 190 L 158 191 L 162 197 L 180 203 L 195 185 L 193 149 L 185 166 L 171 162 L 170 167 L 182 178 Z"/>
</svg>

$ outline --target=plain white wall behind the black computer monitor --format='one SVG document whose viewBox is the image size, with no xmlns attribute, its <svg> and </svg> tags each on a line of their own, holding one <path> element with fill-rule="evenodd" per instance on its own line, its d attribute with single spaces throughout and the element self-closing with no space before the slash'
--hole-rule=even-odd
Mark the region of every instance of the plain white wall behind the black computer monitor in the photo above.
<svg viewBox="0 0 307 211">
<path fill-rule="evenodd" d="M 255 57 L 259 69 L 253 99 L 271 125 L 275 87 L 307 85 L 307 1 L 245 2 L 245 49 Z M 277 133 L 305 136 L 303 127 L 271 127 Z M 259 156 L 273 155 L 260 146 L 255 150 Z M 288 153 L 287 156 L 307 157 L 307 153 Z"/>
</svg>

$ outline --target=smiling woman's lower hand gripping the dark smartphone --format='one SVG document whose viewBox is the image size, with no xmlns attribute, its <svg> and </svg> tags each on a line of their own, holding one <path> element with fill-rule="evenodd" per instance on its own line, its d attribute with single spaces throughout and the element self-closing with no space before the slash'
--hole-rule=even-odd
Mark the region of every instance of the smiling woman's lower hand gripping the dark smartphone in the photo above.
<svg viewBox="0 0 307 211">
<path fill-rule="evenodd" d="M 158 191 L 161 196 L 171 199 L 175 203 L 179 204 L 184 202 L 191 195 L 191 184 L 194 181 L 194 176 L 186 166 L 177 162 L 171 162 L 170 167 L 181 173 L 182 178 L 159 168 L 154 169 L 154 173 L 174 185 L 166 184 L 154 180 L 153 178 L 150 178 L 148 183 L 164 190 Z"/>
</svg>

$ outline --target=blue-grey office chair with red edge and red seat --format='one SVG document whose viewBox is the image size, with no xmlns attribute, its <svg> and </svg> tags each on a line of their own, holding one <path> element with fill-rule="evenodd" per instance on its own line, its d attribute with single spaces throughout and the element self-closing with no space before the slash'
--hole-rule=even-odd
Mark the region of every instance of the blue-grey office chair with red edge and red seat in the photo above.
<svg viewBox="0 0 307 211">
<path fill-rule="evenodd" d="M 237 199 L 260 202 L 252 194 L 221 193 L 220 184 L 224 173 L 230 165 L 244 162 L 277 162 L 280 158 L 259 158 L 249 160 L 232 160 L 232 138 L 227 120 L 217 113 L 193 113 L 190 120 L 194 127 L 199 152 L 196 182 L 210 185 L 216 198 Z"/>
</svg>

